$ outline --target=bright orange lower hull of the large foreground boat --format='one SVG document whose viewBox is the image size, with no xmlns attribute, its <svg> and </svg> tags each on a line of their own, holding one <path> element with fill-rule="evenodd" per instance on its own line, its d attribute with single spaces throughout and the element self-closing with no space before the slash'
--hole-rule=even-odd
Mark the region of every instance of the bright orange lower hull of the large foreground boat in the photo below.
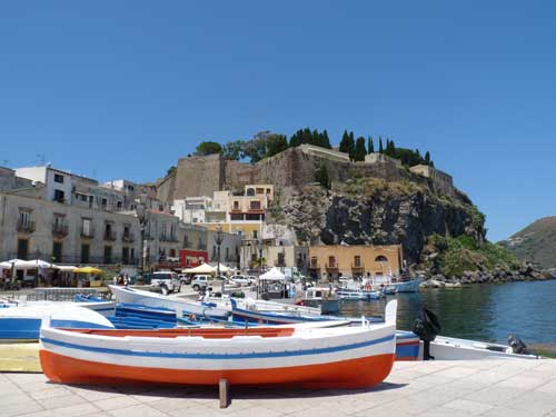
<svg viewBox="0 0 556 417">
<path fill-rule="evenodd" d="M 218 385 L 222 378 L 231 385 L 292 385 L 307 388 L 364 388 L 380 384 L 390 373 L 393 354 L 384 354 L 330 364 L 260 369 L 167 369 L 130 367 L 70 358 L 41 350 L 44 375 L 54 383 L 123 385 L 179 384 Z"/>
</svg>

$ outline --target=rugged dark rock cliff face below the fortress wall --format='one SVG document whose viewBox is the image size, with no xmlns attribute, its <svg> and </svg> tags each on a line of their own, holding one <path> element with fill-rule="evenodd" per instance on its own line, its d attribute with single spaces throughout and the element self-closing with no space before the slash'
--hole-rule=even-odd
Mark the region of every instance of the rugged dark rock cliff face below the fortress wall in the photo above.
<svg viewBox="0 0 556 417">
<path fill-rule="evenodd" d="M 367 180 L 368 181 L 368 180 Z M 410 183 L 374 180 L 358 188 L 326 192 L 306 187 L 285 205 L 291 227 L 301 240 L 325 245 L 397 245 L 408 265 L 417 264 L 427 237 L 468 235 L 484 238 L 473 206 L 436 196 Z"/>
</svg>

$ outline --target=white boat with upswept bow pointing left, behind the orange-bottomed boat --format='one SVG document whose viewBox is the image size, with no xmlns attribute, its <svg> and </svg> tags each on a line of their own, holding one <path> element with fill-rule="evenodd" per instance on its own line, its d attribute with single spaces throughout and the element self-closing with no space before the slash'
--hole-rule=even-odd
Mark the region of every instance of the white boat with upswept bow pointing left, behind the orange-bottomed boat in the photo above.
<svg viewBox="0 0 556 417">
<path fill-rule="evenodd" d="M 193 314 L 198 317 L 227 319 L 229 311 L 201 302 L 188 301 L 185 299 L 170 298 L 159 294 L 143 291 L 140 289 L 108 286 L 116 296 L 118 302 L 139 304 L 148 307 L 163 307 L 182 314 Z"/>
</svg>

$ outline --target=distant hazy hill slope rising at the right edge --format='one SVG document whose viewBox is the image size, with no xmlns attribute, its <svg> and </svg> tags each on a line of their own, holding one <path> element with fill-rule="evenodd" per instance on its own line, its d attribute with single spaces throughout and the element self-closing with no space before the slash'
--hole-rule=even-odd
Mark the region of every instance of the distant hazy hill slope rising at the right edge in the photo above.
<svg viewBox="0 0 556 417">
<path fill-rule="evenodd" d="M 542 268 L 556 268 L 556 216 L 532 222 L 500 245 L 519 259 Z"/>
</svg>

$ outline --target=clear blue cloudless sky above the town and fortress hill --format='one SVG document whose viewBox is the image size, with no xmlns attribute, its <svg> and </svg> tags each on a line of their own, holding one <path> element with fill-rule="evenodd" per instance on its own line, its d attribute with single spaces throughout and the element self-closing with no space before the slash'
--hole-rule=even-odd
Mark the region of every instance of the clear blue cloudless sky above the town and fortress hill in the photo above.
<svg viewBox="0 0 556 417">
<path fill-rule="evenodd" d="M 554 1 L 0 3 L 0 166 L 162 177 L 201 140 L 429 150 L 507 238 L 556 215 Z"/>
</svg>

